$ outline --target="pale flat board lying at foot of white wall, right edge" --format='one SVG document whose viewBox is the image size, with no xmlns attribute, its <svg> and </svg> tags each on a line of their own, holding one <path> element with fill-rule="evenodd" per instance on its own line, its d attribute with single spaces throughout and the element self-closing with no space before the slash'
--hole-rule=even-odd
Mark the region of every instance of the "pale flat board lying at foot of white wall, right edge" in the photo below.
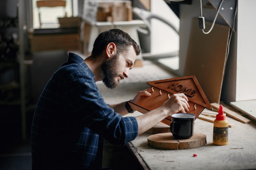
<svg viewBox="0 0 256 170">
<path fill-rule="evenodd" d="M 230 102 L 230 105 L 250 119 L 256 121 L 256 100 Z"/>
</svg>

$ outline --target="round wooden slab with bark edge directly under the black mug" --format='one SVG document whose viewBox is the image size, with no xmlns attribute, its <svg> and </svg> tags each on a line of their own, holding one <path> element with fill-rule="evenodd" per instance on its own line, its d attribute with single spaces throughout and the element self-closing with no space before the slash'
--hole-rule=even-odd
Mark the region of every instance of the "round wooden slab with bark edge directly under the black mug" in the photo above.
<svg viewBox="0 0 256 170">
<path fill-rule="evenodd" d="M 148 137 L 148 145 L 166 150 L 199 148 L 206 145 L 206 135 L 194 132 L 194 135 L 189 139 L 175 139 L 171 132 L 159 133 Z"/>
</svg>

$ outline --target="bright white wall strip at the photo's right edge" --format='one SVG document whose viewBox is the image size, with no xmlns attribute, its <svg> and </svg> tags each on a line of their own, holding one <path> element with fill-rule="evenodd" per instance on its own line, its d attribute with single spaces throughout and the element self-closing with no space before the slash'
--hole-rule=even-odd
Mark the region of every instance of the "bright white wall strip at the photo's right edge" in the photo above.
<svg viewBox="0 0 256 170">
<path fill-rule="evenodd" d="M 255 7 L 255 0 L 238 0 L 236 101 L 256 99 Z"/>
</svg>

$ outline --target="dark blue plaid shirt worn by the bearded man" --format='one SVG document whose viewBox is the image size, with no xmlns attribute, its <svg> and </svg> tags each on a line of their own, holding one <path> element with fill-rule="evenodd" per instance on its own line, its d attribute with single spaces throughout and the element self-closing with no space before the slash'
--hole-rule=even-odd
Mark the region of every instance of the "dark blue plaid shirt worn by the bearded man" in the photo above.
<svg viewBox="0 0 256 170">
<path fill-rule="evenodd" d="M 32 169 L 101 169 L 104 139 L 124 145 L 137 137 L 135 117 L 104 102 L 94 74 L 70 53 L 38 100 L 31 127 Z"/>
</svg>

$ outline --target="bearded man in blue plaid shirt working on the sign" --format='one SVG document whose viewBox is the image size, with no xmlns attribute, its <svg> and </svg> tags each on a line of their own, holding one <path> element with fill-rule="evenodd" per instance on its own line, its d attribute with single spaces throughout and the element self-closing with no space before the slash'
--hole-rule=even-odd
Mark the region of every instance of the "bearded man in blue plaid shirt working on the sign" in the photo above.
<svg viewBox="0 0 256 170">
<path fill-rule="evenodd" d="M 117 87 L 129 77 L 139 53 L 137 43 L 119 29 L 100 33 L 85 60 L 69 53 L 36 105 L 31 127 L 33 170 L 101 170 L 104 139 L 124 145 L 165 117 L 186 113 L 189 104 L 183 93 L 138 117 L 123 117 L 134 111 L 127 102 L 104 102 L 96 82 Z M 145 96 L 150 93 L 139 91 L 132 102 Z"/>
</svg>

